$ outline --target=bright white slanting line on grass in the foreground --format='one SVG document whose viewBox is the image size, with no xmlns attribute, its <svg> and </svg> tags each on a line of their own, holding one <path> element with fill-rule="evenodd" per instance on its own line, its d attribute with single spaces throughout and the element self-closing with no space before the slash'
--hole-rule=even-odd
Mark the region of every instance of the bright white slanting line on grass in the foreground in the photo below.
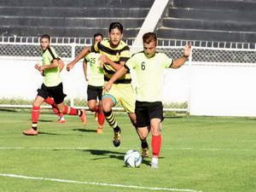
<svg viewBox="0 0 256 192">
<path fill-rule="evenodd" d="M 32 180 L 52 181 L 52 182 L 58 182 L 58 183 L 78 183 L 78 184 L 100 185 L 100 186 L 108 186 L 108 187 L 115 187 L 115 188 L 165 190 L 165 191 L 181 191 L 181 192 L 201 192 L 201 191 L 197 191 L 197 190 L 193 190 L 193 189 L 174 189 L 174 188 L 158 188 L 158 187 L 150 188 L 150 187 L 143 187 L 143 186 L 136 186 L 136 185 L 82 182 L 82 181 L 74 181 L 74 180 L 59 179 L 59 178 L 47 178 L 47 177 L 29 177 L 29 176 L 6 174 L 6 173 L 0 173 L 0 176 L 24 178 L 24 179 L 32 179 Z"/>
</svg>

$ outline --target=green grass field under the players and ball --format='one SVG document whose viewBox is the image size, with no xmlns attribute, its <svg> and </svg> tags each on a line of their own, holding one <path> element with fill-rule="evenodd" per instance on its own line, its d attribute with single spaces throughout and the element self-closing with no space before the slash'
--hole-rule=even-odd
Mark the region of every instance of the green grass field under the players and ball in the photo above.
<svg viewBox="0 0 256 192">
<path fill-rule="evenodd" d="M 30 113 L 0 111 L 0 191 L 184 191 L 253 192 L 256 190 L 256 119 L 220 117 L 166 118 L 159 169 L 150 158 L 139 168 L 124 166 L 129 149 L 140 150 L 137 134 L 125 113 L 119 148 L 105 124 L 82 126 L 77 117 L 55 123 L 40 116 L 40 135 L 26 137 Z M 149 137 L 148 141 L 150 142 Z"/>
</svg>

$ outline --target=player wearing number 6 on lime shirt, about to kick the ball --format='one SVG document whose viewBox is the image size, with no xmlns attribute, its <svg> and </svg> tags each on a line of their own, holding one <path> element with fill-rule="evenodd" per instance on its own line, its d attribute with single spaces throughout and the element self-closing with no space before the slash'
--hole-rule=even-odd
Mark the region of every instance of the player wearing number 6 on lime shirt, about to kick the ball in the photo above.
<svg viewBox="0 0 256 192">
<path fill-rule="evenodd" d="M 105 90 L 113 89 L 113 82 L 129 70 L 134 70 L 137 77 L 136 109 L 137 131 L 141 138 L 152 134 L 151 148 L 153 158 L 151 167 L 158 167 L 158 157 L 161 147 L 161 121 L 163 120 L 163 105 L 161 89 L 165 68 L 178 68 L 187 61 L 191 52 L 191 45 L 186 45 L 183 56 L 172 60 L 164 53 L 156 51 L 157 38 L 154 32 L 143 35 L 143 51 L 132 55 L 113 77 L 105 84 Z M 149 128 L 149 129 L 148 129 Z"/>
</svg>

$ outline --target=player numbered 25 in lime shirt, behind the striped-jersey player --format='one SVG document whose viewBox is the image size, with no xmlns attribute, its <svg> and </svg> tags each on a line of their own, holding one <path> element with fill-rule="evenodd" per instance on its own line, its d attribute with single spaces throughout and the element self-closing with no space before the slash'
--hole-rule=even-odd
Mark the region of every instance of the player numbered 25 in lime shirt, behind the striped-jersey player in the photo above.
<svg viewBox="0 0 256 192">
<path fill-rule="evenodd" d="M 103 36 L 101 33 L 96 33 L 93 37 L 94 44 L 101 42 Z M 105 116 L 102 109 L 102 87 L 104 85 L 104 71 L 100 67 L 99 57 L 101 55 L 96 52 L 91 52 L 89 55 L 84 57 L 83 67 L 84 76 L 88 81 L 87 86 L 87 102 L 90 111 L 95 112 L 96 121 L 98 127 L 96 133 L 102 133 Z M 87 73 L 87 62 L 89 62 L 90 75 Z M 99 103 L 97 104 L 97 99 Z"/>
</svg>

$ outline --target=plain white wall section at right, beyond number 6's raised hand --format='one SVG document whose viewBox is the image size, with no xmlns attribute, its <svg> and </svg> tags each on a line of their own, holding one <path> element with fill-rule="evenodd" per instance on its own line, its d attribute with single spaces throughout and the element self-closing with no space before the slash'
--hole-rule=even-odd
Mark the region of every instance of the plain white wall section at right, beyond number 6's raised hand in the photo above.
<svg viewBox="0 0 256 192">
<path fill-rule="evenodd" d="M 191 67 L 193 115 L 256 116 L 256 67 Z"/>
</svg>

